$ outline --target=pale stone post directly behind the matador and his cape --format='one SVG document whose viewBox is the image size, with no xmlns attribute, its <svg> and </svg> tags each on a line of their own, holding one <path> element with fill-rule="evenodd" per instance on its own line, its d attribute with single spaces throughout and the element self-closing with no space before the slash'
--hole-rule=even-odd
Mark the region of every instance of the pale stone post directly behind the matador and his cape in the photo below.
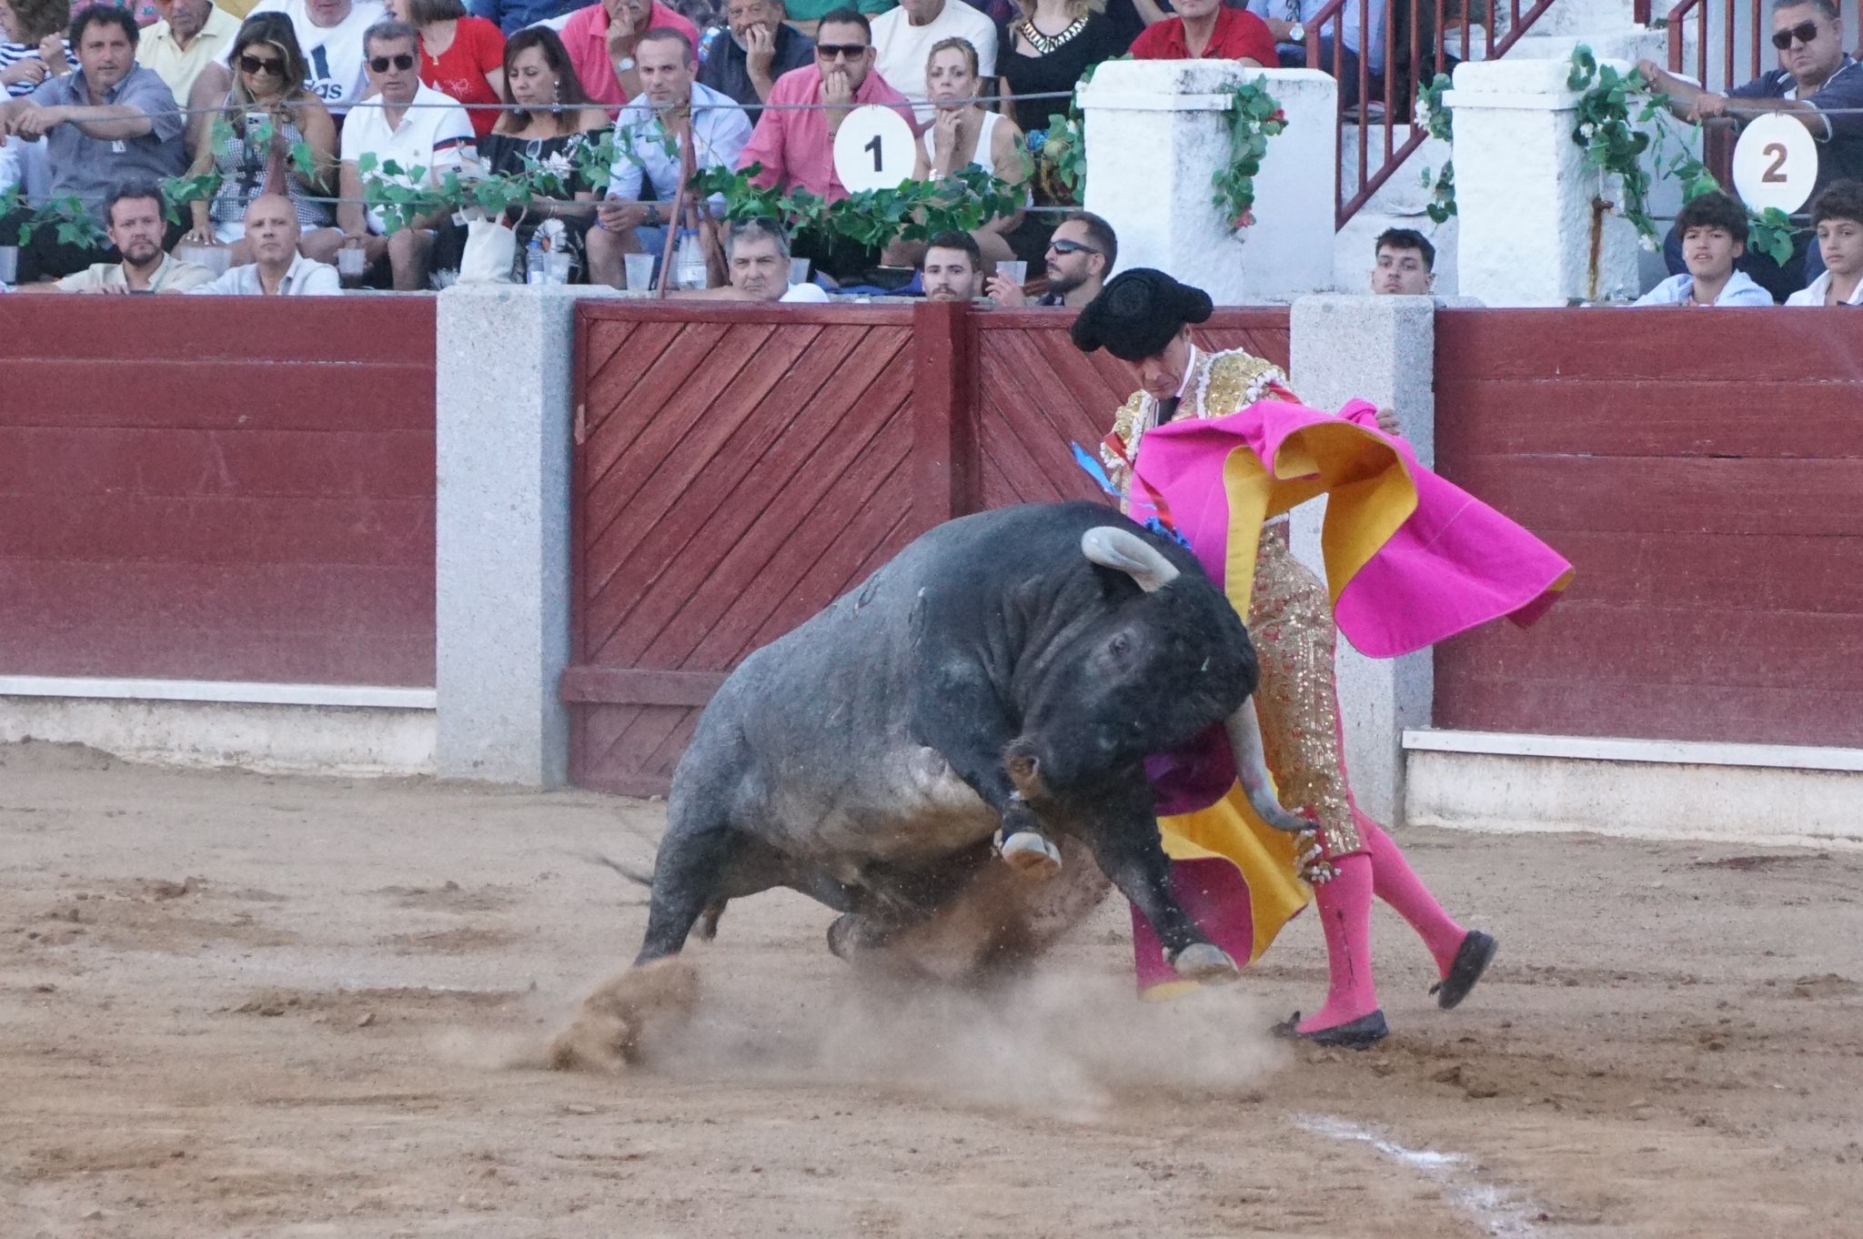
<svg viewBox="0 0 1863 1239">
<path fill-rule="evenodd" d="M 1436 302 L 1427 296 L 1302 296 L 1293 304 L 1293 388 L 1313 408 L 1353 399 L 1397 410 L 1416 458 L 1436 456 Z M 1326 501 L 1293 511 L 1293 551 L 1321 572 L 1319 529 Z M 1379 822 L 1405 816 L 1407 727 L 1429 727 L 1429 650 L 1366 658 L 1339 643 L 1339 712 L 1345 762 L 1360 809 Z"/>
</svg>

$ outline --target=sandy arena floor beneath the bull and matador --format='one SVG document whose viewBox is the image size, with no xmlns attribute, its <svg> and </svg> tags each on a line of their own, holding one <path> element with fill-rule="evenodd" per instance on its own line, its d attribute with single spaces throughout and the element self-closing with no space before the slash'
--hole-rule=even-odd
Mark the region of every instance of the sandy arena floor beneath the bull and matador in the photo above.
<svg viewBox="0 0 1863 1239">
<path fill-rule="evenodd" d="M 0 747 L 0 1237 L 1863 1235 L 1863 855 L 1401 833 L 1502 939 L 1395 1036 L 1297 922 L 1140 1006 L 1123 904 L 1006 1001 L 734 904 L 628 1075 L 535 1066 L 645 924 L 658 805 Z"/>
</svg>

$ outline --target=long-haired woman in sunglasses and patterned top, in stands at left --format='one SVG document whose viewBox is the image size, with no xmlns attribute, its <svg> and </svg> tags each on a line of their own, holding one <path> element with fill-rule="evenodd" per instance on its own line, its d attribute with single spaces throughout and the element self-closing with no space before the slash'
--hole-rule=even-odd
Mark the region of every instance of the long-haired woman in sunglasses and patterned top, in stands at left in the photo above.
<svg viewBox="0 0 1863 1239">
<path fill-rule="evenodd" d="M 298 35 L 283 13 L 248 17 L 233 39 L 227 69 L 209 65 L 194 82 L 196 110 L 188 175 L 218 173 L 212 199 L 188 203 L 194 227 L 186 240 L 231 244 L 235 266 L 252 263 L 246 248 L 246 207 L 266 194 L 283 194 L 306 235 L 332 220 L 337 127 L 322 99 L 304 88 L 309 67 Z M 270 130 L 270 136 L 266 136 Z M 294 157 L 298 143 L 309 158 Z"/>
</svg>

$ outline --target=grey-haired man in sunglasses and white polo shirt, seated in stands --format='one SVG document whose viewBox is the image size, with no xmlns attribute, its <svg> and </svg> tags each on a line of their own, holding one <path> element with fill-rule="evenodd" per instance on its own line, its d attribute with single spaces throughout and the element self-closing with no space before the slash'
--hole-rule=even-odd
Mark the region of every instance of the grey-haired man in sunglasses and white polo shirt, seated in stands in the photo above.
<svg viewBox="0 0 1863 1239">
<path fill-rule="evenodd" d="M 417 216 L 412 227 L 388 233 L 380 207 L 363 207 L 365 190 L 412 184 L 408 171 L 423 168 L 423 183 L 438 184 L 447 170 L 456 170 L 473 151 L 471 121 L 466 110 L 430 86 L 417 71 L 419 37 L 393 17 L 369 28 L 363 39 L 369 86 L 384 106 L 358 108 L 343 125 L 343 166 L 337 179 L 337 229 L 319 229 L 304 238 L 304 253 L 319 263 L 335 257 L 341 246 L 358 246 L 369 268 L 388 259 L 393 287 L 401 293 L 427 287 L 434 248 L 445 231 L 456 244 L 453 212 L 445 207 Z M 421 104 L 421 106 L 410 106 Z M 451 104 L 451 106 L 447 106 Z M 361 157 L 373 155 L 374 168 L 361 173 Z M 395 162 L 401 175 L 382 171 Z"/>
</svg>

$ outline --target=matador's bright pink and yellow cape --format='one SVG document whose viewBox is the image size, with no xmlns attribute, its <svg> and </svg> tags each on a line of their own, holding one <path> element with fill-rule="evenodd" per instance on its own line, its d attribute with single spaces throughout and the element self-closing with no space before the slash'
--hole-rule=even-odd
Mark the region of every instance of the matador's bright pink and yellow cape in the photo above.
<svg viewBox="0 0 1863 1239">
<path fill-rule="evenodd" d="M 1317 496 L 1328 496 L 1321 553 L 1334 619 L 1371 658 L 1500 617 L 1530 624 L 1572 579 L 1557 551 L 1382 434 L 1364 401 L 1338 417 L 1259 401 L 1157 427 L 1133 466 L 1129 512 L 1176 525 L 1246 617 L 1261 522 Z M 1293 837 L 1248 810 L 1226 745 L 1209 740 L 1149 766 L 1166 814 L 1159 831 L 1185 909 L 1237 961 L 1254 961 L 1312 892 L 1297 876 Z M 1176 974 L 1136 909 L 1133 946 L 1146 997 L 1172 993 Z"/>
</svg>

